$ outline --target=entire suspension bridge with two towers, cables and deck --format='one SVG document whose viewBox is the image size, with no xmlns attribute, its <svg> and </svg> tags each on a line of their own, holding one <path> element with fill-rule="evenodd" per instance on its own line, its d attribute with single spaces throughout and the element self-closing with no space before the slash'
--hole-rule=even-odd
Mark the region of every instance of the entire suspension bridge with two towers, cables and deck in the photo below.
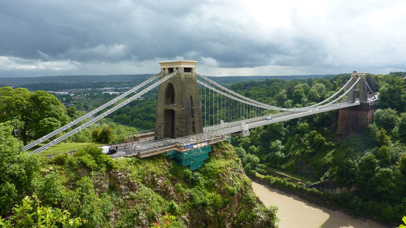
<svg viewBox="0 0 406 228">
<path fill-rule="evenodd" d="M 129 145 L 125 155 L 146 158 L 168 153 L 179 164 L 193 170 L 208 158 L 212 144 L 229 140 L 231 134 L 248 136 L 250 129 L 259 126 L 340 109 L 338 134 L 356 130 L 354 127 L 366 127 L 372 121 L 378 100 L 366 83 L 365 73 L 354 71 L 341 89 L 321 102 L 297 108 L 273 106 L 221 86 L 196 72 L 196 63 L 159 62 L 158 74 L 23 149 L 66 132 L 29 153 L 38 154 L 158 88 L 154 140 Z M 111 107 L 116 102 L 119 103 Z M 94 118 L 89 120 L 89 117 Z M 79 125 L 81 122 L 85 123 Z"/>
</svg>

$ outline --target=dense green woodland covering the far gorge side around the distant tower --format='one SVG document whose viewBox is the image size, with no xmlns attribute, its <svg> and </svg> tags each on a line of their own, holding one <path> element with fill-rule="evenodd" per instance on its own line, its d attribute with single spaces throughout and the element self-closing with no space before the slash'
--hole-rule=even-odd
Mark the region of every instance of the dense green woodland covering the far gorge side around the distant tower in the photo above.
<svg viewBox="0 0 406 228">
<path fill-rule="evenodd" d="M 348 79 L 336 75 L 314 82 L 264 81 L 231 88 L 266 103 L 298 107 L 325 99 Z M 368 74 L 367 82 L 379 90 L 380 100 L 374 123 L 362 134 L 337 140 L 337 110 L 259 127 L 249 137 L 233 138 L 246 172 L 266 175 L 266 168 L 273 167 L 313 180 L 334 180 L 348 193 L 332 201 L 357 214 L 400 221 L 406 214 L 405 83 L 397 74 Z"/>
</svg>

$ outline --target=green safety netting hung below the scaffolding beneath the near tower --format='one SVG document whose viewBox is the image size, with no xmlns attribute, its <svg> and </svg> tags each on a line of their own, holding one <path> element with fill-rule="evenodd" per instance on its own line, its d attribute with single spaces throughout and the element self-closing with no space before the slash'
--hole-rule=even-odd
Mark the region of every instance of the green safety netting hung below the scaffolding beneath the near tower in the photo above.
<svg viewBox="0 0 406 228">
<path fill-rule="evenodd" d="M 171 150 L 168 155 L 171 159 L 181 166 L 189 166 L 190 170 L 195 170 L 203 165 L 203 162 L 209 158 L 209 152 L 212 151 L 212 146 L 200 147 L 191 149 L 181 153 L 177 150 Z"/>
</svg>

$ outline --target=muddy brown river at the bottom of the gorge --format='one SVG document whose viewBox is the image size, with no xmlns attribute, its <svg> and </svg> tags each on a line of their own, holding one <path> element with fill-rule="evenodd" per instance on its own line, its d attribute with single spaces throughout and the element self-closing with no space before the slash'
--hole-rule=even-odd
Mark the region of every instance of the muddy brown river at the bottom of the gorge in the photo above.
<svg viewBox="0 0 406 228">
<path fill-rule="evenodd" d="M 252 188 L 265 206 L 278 206 L 277 215 L 280 219 L 280 228 L 386 227 L 371 220 L 352 218 L 342 212 L 316 206 L 294 195 L 283 193 L 278 189 L 269 188 L 254 181 L 252 181 Z"/>
</svg>

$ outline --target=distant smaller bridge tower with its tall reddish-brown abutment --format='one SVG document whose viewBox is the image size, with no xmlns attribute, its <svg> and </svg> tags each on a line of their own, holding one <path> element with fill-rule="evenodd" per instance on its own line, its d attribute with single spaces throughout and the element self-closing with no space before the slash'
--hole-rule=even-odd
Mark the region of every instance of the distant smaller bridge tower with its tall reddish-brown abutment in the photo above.
<svg viewBox="0 0 406 228">
<path fill-rule="evenodd" d="M 344 138 L 350 133 L 361 133 L 373 120 L 376 101 L 368 101 L 368 88 L 365 80 L 366 73 L 351 73 L 353 78 L 350 87 L 358 78 L 361 78 L 353 91 L 348 93 L 348 102 L 356 101 L 356 93 L 359 93 L 359 105 L 342 108 L 339 111 L 339 124 L 337 126 L 337 138 Z"/>
</svg>

